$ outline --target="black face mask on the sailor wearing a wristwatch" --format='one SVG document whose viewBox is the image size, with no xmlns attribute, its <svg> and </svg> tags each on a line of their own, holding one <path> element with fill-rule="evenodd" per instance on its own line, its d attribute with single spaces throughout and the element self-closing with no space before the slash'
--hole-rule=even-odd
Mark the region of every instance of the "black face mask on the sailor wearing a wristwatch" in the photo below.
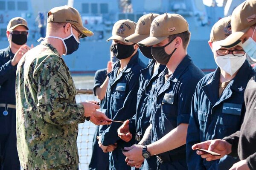
<svg viewBox="0 0 256 170">
<path fill-rule="evenodd" d="M 173 39 L 175 40 L 175 39 Z M 169 59 L 172 57 L 172 54 L 176 51 L 177 48 L 175 48 L 171 54 L 166 54 L 164 48 L 171 44 L 172 41 L 170 41 L 168 44 L 164 45 L 163 47 L 152 47 L 151 53 L 154 57 L 154 59 L 159 62 L 160 64 L 166 65 L 169 62 Z"/>
</svg>

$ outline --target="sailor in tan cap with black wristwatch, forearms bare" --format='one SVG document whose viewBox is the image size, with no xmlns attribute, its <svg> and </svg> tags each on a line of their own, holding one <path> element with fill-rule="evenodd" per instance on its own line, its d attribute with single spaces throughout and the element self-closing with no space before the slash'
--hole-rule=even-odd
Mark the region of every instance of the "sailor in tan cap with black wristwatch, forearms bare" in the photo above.
<svg viewBox="0 0 256 170">
<path fill-rule="evenodd" d="M 151 126 L 142 140 L 151 144 L 125 147 L 129 164 L 157 155 L 157 170 L 186 170 L 186 131 L 195 86 L 204 76 L 186 53 L 189 26 L 179 14 L 162 14 L 151 23 L 150 36 L 139 45 L 153 45 L 154 59 L 166 68 L 156 80 Z"/>
</svg>

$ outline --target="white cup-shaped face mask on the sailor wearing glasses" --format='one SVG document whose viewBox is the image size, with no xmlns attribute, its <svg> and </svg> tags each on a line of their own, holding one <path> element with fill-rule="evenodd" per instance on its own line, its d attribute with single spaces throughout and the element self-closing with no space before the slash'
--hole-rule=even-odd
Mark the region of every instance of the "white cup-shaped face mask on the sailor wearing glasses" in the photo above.
<svg viewBox="0 0 256 170">
<path fill-rule="evenodd" d="M 224 56 L 215 57 L 215 62 L 224 70 L 227 74 L 232 76 L 239 70 L 239 68 L 244 64 L 246 57 L 244 56 L 234 56 L 233 54 L 227 54 Z"/>
</svg>

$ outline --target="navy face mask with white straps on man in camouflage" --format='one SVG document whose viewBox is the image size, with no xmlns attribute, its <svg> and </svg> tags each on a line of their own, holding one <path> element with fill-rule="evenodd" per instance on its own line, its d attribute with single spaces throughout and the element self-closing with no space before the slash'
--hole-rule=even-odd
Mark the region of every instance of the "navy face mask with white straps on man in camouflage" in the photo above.
<svg viewBox="0 0 256 170">
<path fill-rule="evenodd" d="M 55 36 L 47 36 L 45 38 L 57 38 L 62 40 L 66 52 L 63 55 L 69 55 L 72 54 L 74 51 L 76 51 L 79 48 L 79 40 L 76 39 L 76 36 L 73 34 L 72 28 L 71 28 L 71 34 L 66 37 L 66 38 L 61 38 L 61 37 L 55 37 Z"/>
</svg>

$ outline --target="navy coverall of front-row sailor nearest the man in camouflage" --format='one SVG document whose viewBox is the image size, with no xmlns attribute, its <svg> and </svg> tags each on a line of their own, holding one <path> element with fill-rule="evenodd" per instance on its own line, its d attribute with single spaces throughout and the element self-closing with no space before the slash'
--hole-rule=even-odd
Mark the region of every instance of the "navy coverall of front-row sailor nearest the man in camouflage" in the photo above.
<svg viewBox="0 0 256 170">
<path fill-rule="evenodd" d="M 145 68 L 145 64 L 140 60 L 137 52 L 117 75 L 119 68 L 120 62 L 116 62 L 113 71 L 108 74 L 109 83 L 102 111 L 112 120 L 125 121 L 131 119 L 136 113 L 140 70 Z M 135 140 L 125 142 L 117 136 L 117 129 L 121 125 L 113 122 L 111 125 L 100 126 L 99 129 L 104 146 L 117 143 L 117 148 L 109 153 L 110 170 L 131 170 L 131 167 L 126 164 L 125 156 L 120 148 L 130 147 Z"/>
</svg>

